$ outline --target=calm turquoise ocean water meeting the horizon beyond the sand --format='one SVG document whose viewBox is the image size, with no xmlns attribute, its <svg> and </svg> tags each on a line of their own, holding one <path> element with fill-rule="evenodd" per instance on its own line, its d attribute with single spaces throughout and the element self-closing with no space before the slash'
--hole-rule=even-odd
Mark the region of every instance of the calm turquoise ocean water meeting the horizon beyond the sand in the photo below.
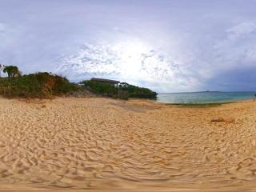
<svg viewBox="0 0 256 192">
<path fill-rule="evenodd" d="M 255 98 L 256 92 L 193 92 L 158 94 L 157 102 L 166 103 L 209 103 L 235 102 Z"/>
</svg>

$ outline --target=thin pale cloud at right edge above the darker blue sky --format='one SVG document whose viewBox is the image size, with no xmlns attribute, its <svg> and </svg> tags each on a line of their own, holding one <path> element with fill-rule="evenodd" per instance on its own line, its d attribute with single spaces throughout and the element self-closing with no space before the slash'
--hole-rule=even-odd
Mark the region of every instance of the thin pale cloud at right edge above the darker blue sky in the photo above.
<svg viewBox="0 0 256 192">
<path fill-rule="evenodd" d="M 207 81 L 214 76 L 235 70 L 241 66 L 251 67 L 256 62 L 256 22 L 241 22 L 223 31 L 222 38 L 210 41 L 205 57 L 200 60 L 200 74 L 202 81 Z"/>
</svg>

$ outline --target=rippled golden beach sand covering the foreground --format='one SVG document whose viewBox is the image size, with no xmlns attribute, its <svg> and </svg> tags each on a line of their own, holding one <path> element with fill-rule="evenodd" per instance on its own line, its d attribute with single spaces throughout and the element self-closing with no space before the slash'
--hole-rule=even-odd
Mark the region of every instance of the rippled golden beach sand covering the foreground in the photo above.
<svg viewBox="0 0 256 192">
<path fill-rule="evenodd" d="M 256 189 L 256 101 L 0 98 L 0 121 L 1 190 Z"/>
</svg>

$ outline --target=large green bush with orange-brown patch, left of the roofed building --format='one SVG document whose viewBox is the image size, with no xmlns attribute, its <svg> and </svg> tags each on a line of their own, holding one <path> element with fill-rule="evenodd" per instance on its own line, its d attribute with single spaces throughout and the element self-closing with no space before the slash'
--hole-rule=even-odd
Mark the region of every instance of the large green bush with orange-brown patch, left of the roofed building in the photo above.
<svg viewBox="0 0 256 192">
<path fill-rule="evenodd" d="M 46 72 L 0 79 L 0 94 L 7 98 L 50 98 L 79 89 L 66 78 Z"/>
</svg>

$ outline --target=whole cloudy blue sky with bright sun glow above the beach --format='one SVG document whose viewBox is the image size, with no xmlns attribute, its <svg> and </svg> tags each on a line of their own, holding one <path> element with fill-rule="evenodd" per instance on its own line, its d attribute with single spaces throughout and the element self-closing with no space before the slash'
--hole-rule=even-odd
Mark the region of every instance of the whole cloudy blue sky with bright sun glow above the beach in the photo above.
<svg viewBox="0 0 256 192">
<path fill-rule="evenodd" d="M 256 91 L 255 0 L 0 0 L 0 63 L 158 92 Z"/>
</svg>

